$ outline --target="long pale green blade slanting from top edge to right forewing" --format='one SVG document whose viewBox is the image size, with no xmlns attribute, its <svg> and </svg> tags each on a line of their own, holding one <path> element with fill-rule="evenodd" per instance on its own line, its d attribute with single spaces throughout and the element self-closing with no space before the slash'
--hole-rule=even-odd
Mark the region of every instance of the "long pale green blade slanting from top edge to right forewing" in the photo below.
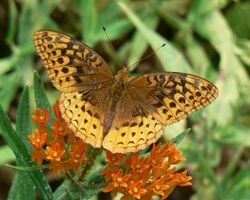
<svg viewBox="0 0 250 200">
<path fill-rule="evenodd" d="M 166 44 L 164 48 L 156 52 L 162 66 L 168 71 L 181 71 L 190 72 L 190 66 L 184 59 L 182 54 L 164 37 L 149 29 L 141 19 L 123 2 L 118 1 L 118 5 L 128 16 L 131 22 L 135 25 L 138 31 L 141 32 L 145 40 L 150 44 L 153 49 L 157 49 L 163 44 Z M 176 70 L 178 69 L 178 70 Z"/>
</svg>

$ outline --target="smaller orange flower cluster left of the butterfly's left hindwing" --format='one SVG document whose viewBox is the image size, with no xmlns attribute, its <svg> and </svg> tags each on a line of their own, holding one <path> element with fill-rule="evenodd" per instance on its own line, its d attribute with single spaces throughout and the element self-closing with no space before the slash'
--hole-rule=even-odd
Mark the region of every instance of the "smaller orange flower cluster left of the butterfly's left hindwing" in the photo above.
<svg viewBox="0 0 250 200">
<path fill-rule="evenodd" d="M 61 117 L 58 102 L 54 105 L 54 113 L 56 120 L 51 128 L 51 135 L 48 134 L 47 129 L 51 118 L 48 109 L 43 112 L 36 109 L 36 115 L 32 116 L 37 124 L 34 136 L 29 135 L 29 140 L 34 147 L 32 161 L 37 161 L 38 165 L 41 165 L 44 160 L 49 162 L 53 175 L 58 172 L 65 173 L 67 170 L 77 173 L 83 162 L 87 160 L 85 153 L 88 145 L 69 130 Z"/>
</svg>

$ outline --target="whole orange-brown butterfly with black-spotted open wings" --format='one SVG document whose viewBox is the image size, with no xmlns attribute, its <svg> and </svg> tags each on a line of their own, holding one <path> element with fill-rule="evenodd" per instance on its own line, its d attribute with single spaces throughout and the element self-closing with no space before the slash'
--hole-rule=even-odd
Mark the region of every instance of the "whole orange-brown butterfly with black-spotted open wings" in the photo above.
<svg viewBox="0 0 250 200">
<path fill-rule="evenodd" d="M 113 153 L 136 152 L 154 143 L 163 127 L 210 104 L 218 90 L 208 80 L 178 72 L 129 80 L 127 68 L 113 75 L 90 47 L 48 30 L 34 34 L 53 85 L 61 91 L 60 111 L 84 142 Z"/>
</svg>

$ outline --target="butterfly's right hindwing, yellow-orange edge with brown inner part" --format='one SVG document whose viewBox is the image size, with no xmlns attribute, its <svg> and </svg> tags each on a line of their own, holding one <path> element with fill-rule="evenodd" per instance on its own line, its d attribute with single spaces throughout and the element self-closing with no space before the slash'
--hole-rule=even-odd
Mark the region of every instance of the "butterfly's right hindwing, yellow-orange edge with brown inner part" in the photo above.
<svg viewBox="0 0 250 200">
<path fill-rule="evenodd" d="M 137 152 L 156 142 L 162 135 L 163 126 L 141 101 L 124 91 L 116 105 L 116 112 L 108 134 L 103 141 L 103 147 L 111 152 Z"/>
</svg>

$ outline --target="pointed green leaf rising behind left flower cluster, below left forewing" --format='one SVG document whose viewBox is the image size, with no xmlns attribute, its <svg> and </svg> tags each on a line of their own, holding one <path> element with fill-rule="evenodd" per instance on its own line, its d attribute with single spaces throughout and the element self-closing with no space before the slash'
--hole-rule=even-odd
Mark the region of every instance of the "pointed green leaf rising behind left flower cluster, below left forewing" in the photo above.
<svg viewBox="0 0 250 200">
<path fill-rule="evenodd" d="M 34 91 L 35 91 L 36 106 L 40 108 L 42 111 L 45 108 L 49 109 L 49 114 L 52 117 L 52 119 L 50 120 L 48 127 L 51 127 L 54 122 L 55 115 L 37 72 L 35 72 L 34 74 Z"/>
</svg>

